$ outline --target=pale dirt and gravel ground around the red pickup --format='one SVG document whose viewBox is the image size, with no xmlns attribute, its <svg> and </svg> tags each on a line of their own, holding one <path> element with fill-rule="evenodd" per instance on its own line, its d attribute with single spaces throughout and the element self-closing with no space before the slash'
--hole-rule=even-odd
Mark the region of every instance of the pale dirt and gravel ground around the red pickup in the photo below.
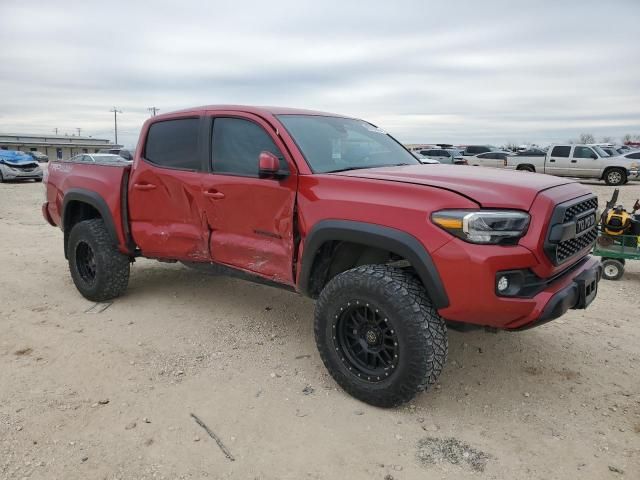
<svg viewBox="0 0 640 480">
<path fill-rule="evenodd" d="M 450 332 L 441 383 L 380 410 L 336 388 L 294 294 L 140 260 L 91 310 L 42 196 L 0 185 L 2 479 L 640 478 L 640 262 L 546 326 Z"/>
</svg>

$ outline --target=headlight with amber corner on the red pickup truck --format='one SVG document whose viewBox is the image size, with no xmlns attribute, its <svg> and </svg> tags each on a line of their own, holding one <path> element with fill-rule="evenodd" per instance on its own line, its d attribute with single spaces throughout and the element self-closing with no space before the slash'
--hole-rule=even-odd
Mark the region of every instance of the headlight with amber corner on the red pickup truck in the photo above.
<svg viewBox="0 0 640 480">
<path fill-rule="evenodd" d="M 516 210 L 441 210 L 433 223 L 466 242 L 514 245 L 529 226 L 529 214 Z"/>
</svg>

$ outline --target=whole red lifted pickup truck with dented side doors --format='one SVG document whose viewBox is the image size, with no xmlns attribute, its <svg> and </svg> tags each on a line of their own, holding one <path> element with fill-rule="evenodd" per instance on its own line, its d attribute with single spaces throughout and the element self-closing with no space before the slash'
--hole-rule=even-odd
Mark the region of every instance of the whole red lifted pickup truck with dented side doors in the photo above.
<svg viewBox="0 0 640 480">
<path fill-rule="evenodd" d="M 50 163 L 42 207 L 82 295 L 136 257 L 316 299 L 335 380 L 390 407 L 438 378 L 451 328 L 526 329 L 595 298 L 597 199 L 549 175 L 422 165 L 363 120 L 209 106 L 155 116 L 133 163 Z M 233 292 L 229 291 L 232 295 Z"/>
</svg>

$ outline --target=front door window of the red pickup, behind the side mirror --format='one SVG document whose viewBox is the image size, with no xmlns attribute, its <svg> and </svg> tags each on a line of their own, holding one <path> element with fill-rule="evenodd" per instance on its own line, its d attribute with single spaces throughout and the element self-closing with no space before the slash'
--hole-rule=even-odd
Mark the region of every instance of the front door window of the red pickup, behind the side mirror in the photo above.
<svg viewBox="0 0 640 480">
<path fill-rule="evenodd" d="M 215 118 L 211 142 L 214 173 L 257 177 L 258 157 L 262 151 L 279 157 L 280 169 L 287 168 L 282 153 L 269 134 L 249 120 Z"/>
</svg>

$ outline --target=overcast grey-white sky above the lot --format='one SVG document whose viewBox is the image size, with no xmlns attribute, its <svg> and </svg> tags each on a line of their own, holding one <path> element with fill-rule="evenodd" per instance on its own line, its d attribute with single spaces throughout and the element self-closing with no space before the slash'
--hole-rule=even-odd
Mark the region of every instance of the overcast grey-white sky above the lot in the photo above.
<svg viewBox="0 0 640 480">
<path fill-rule="evenodd" d="M 0 0 L 0 132 L 134 146 L 215 103 L 365 118 L 404 142 L 640 134 L 640 1 Z"/>
</svg>

